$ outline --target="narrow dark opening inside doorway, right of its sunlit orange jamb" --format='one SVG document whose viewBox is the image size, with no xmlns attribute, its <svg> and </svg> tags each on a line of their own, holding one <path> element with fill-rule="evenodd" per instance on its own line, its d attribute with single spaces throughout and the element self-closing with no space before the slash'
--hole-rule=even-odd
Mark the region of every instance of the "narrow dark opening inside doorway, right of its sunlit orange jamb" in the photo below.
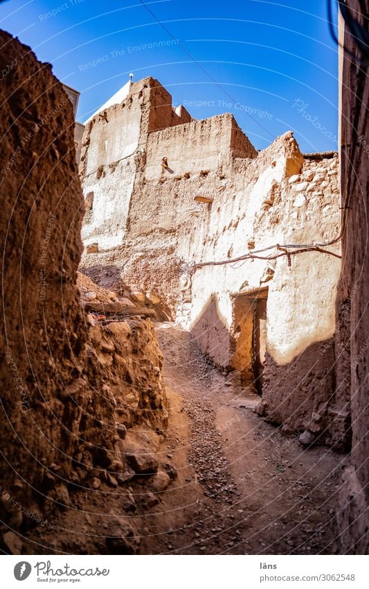
<svg viewBox="0 0 369 589">
<path fill-rule="evenodd" d="M 253 376 L 255 389 L 262 395 L 264 359 L 267 345 L 267 299 L 255 299 L 253 311 Z"/>
</svg>

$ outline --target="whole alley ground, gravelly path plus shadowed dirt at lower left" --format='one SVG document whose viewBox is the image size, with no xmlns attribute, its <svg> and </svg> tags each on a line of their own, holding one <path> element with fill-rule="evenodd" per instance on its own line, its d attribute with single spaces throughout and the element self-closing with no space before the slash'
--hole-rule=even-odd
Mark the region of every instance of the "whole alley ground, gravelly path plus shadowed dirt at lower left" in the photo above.
<svg viewBox="0 0 369 589">
<path fill-rule="evenodd" d="M 163 323 L 157 334 L 170 402 L 167 436 L 136 427 L 125 444 L 146 449 L 172 475 L 174 466 L 177 477 L 163 492 L 151 475 L 131 474 L 123 486 L 88 478 L 71 489 L 69 509 L 24 538 L 24 554 L 337 552 L 343 456 L 307 450 L 264 422 L 253 411 L 259 398 L 208 364 L 188 332 Z"/>
</svg>

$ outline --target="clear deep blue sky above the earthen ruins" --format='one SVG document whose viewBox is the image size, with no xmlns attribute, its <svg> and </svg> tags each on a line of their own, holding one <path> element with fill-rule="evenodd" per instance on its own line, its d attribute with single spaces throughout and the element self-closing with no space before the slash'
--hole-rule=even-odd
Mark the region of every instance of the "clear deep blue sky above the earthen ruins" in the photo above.
<svg viewBox="0 0 369 589">
<path fill-rule="evenodd" d="M 305 153 L 337 148 L 337 51 L 324 0 L 147 6 L 176 41 L 139 0 L 11 0 L 0 4 L 0 26 L 81 92 L 82 122 L 132 71 L 157 78 L 195 119 L 232 112 L 256 148 L 289 129 Z"/>
</svg>

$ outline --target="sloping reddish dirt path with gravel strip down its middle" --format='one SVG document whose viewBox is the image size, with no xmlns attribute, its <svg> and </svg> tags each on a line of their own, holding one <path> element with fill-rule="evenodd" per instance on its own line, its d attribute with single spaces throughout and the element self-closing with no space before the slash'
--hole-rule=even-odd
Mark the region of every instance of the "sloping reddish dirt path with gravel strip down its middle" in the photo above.
<svg viewBox="0 0 369 589">
<path fill-rule="evenodd" d="M 222 375 L 187 332 L 157 329 L 170 397 L 160 451 L 178 477 L 146 519 L 147 554 L 332 554 L 342 456 L 306 450 L 253 411 L 258 398 Z"/>
</svg>

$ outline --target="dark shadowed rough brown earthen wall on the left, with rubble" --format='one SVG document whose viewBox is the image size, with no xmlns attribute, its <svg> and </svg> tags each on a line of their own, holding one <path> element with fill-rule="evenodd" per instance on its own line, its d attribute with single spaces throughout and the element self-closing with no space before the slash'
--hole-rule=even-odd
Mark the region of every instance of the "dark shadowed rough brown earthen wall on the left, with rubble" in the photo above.
<svg viewBox="0 0 369 589">
<path fill-rule="evenodd" d="M 150 321 L 103 327 L 80 306 L 84 205 L 69 98 L 49 64 L 0 37 L 0 546 L 20 554 L 19 533 L 91 477 L 123 470 L 122 427 L 162 429 L 168 413 Z"/>
</svg>

